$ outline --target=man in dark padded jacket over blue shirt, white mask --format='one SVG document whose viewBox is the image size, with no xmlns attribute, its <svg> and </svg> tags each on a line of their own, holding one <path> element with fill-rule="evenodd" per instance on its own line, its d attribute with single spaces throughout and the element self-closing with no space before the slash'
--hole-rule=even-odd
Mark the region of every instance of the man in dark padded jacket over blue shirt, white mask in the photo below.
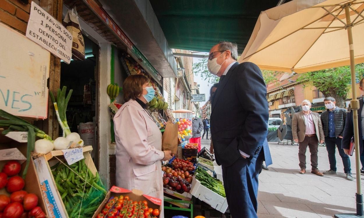
<svg viewBox="0 0 364 218">
<path fill-rule="evenodd" d="M 324 174 L 336 174 L 336 146 L 339 150 L 341 160 L 343 160 L 344 173 L 346 179 L 354 180 L 351 176 L 350 158 L 341 148 L 341 140 L 343 138 L 346 109 L 336 106 L 335 98 L 327 97 L 324 100 L 327 110 L 321 113 L 322 128 L 325 135 L 326 150 L 329 157 L 330 169 L 323 172 Z"/>
</svg>

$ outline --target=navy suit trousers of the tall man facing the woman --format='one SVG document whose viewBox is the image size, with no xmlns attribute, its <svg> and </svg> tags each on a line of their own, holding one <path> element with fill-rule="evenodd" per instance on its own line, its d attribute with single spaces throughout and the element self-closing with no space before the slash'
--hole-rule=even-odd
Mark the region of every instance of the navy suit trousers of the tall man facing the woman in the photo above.
<svg viewBox="0 0 364 218">
<path fill-rule="evenodd" d="M 262 171 L 264 152 L 257 158 L 239 157 L 230 166 L 222 166 L 227 204 L 233 218 L 257 218 L 258 175 Z"/>
</svg>

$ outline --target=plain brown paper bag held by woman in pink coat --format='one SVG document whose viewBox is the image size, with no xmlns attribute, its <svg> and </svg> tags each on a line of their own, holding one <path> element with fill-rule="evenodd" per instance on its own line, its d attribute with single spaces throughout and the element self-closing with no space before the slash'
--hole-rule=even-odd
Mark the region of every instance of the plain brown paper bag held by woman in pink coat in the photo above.
<svg viewBox="0 0 364 218">
<path fill-rule="evenodd" d="M 166 129 L 162 137 L 162 151 L 170 150 L 173 154 L 177 154 L 178 145 L 178 124 L 168 121 Z"/>
</svg>

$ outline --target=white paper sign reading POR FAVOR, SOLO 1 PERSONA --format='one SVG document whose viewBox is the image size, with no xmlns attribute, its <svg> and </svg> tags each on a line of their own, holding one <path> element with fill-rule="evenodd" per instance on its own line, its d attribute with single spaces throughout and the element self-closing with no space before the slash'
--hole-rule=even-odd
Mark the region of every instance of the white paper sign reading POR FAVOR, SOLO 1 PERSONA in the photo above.
<svg viewBox="0 0 364 218">
<path fill-rule="evenodd" d="M 72 34 L 53 16 L 32 1 L 26 35 L 69 64 L 72 57 Z"/>
</svg>

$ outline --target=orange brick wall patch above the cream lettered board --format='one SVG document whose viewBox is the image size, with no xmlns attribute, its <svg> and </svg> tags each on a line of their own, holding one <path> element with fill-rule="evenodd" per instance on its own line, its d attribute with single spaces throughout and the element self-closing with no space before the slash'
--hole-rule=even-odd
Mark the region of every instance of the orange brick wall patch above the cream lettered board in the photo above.
<svg viewBox="0 0 364 218">
<path fill-rule="evenodd" d="M 0 22 L 25 35 L 31 2 L 23 4 L 19 0 L 0 0 Z M 34 2 L 39 5 L 39 0 Z"/>
</svg>

